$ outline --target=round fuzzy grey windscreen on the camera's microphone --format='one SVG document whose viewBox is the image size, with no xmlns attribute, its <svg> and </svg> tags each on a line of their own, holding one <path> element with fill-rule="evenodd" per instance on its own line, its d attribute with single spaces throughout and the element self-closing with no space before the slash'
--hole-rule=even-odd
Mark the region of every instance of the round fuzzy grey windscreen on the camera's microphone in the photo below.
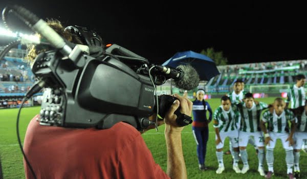
<svg viewBox="0 0 307 179">
<path fill-rule="evenodd" d="M 179 65 L 177 68 L 180 68 L 184 74 L 182 78 L 174 81 L 176 87 L 191 90 L 199 85 L 200 76 L 191 65 Z"/>
</svg>

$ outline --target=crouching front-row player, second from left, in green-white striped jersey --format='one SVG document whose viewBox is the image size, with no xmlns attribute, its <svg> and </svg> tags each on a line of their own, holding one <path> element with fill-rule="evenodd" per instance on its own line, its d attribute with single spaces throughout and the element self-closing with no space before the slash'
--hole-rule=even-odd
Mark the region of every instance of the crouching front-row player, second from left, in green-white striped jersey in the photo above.
<svg viewBox="0 0 307 179">
<path fill-rule="evenodd" d="M 241 172 L 246 173 L 249 170 L 246 147 L 251 139 L 250 137 L 252 137 L 254 139 L 253 141 L 255 141 L 255 145 L 258 147 L 258 172 L 261 176 L 265 176 L 265 145 L 259 122 L 261 111 L 268 108 L 268 104 L 264 102 L 255 103 L 253 94 L 247 93 L 244 96 L 244 102 L 237 104 L 237 108 L 242 119 L 239 130 L 239 150 L 244 166 Z"/>
</svg>

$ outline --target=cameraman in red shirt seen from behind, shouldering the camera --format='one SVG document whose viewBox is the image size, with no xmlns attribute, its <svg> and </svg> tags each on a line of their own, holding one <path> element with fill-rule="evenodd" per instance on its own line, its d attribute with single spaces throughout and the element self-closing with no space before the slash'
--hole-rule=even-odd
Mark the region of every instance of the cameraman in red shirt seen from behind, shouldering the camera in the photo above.
<svg viewBox="0 0 307 179">
<path fill-rule="evenodd" d="M 57 20 L 48 21 L 65 39 L 76 37 L 64 31 Z M 74 40 L 76 39 L 76 40 Z M 30 48 L 27 59 L 33 62 L 38 52 Z M 178 98 L 165 115 L 167 171 L 153 160 L 141 133 L 130 124 L 118 122 L 108 129 L 64 128 L 39 124 L 39 115 L 29 123 L 24 141 L 25 155 L 37 178 L 187 178 L 181 131 L 174 111 L 191 115 L 192 102 Z M 149 117 L 155 121 L 155 116 Z M 160 121 L 160 123 L 163 123 Z M 24 160 L 27 178 L 34 178 Z"/>
</svg>

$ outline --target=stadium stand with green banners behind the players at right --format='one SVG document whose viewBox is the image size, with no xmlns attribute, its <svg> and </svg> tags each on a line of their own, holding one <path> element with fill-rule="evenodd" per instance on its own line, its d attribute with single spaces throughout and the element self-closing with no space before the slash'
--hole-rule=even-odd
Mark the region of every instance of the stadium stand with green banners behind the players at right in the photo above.
<svg viewBox="0 0 307 179">
<path fill-rule="evenodd" d="M 228 93 L 237 79 L 250 86 L 292 85 L 297 74 L 307 75 L 307 60 L 289 60 L 261 63 L 220 65 L 220 75 L 210 79 L 205 85 L 207 93 Z"/>
</svg>

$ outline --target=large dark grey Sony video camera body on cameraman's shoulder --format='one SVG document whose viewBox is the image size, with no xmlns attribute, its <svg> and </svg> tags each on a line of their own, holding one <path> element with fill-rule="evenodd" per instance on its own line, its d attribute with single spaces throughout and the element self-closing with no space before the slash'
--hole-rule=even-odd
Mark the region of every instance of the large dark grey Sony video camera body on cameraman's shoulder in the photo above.
<svg viewBox="0 0 307 179">
<path fill-rule="evenodd" d="M 148 127 L 144 120 L 155 106 L 149 76 L 106 54 L 81 53 L 71 60 L 54 50 L 36 57 L 32 72 L 46 81 L 40 124 L 104 129 L 123 121 L 138 130 Z M 143 65 L 135 61 L 134 66 Z"/>
</svg>

